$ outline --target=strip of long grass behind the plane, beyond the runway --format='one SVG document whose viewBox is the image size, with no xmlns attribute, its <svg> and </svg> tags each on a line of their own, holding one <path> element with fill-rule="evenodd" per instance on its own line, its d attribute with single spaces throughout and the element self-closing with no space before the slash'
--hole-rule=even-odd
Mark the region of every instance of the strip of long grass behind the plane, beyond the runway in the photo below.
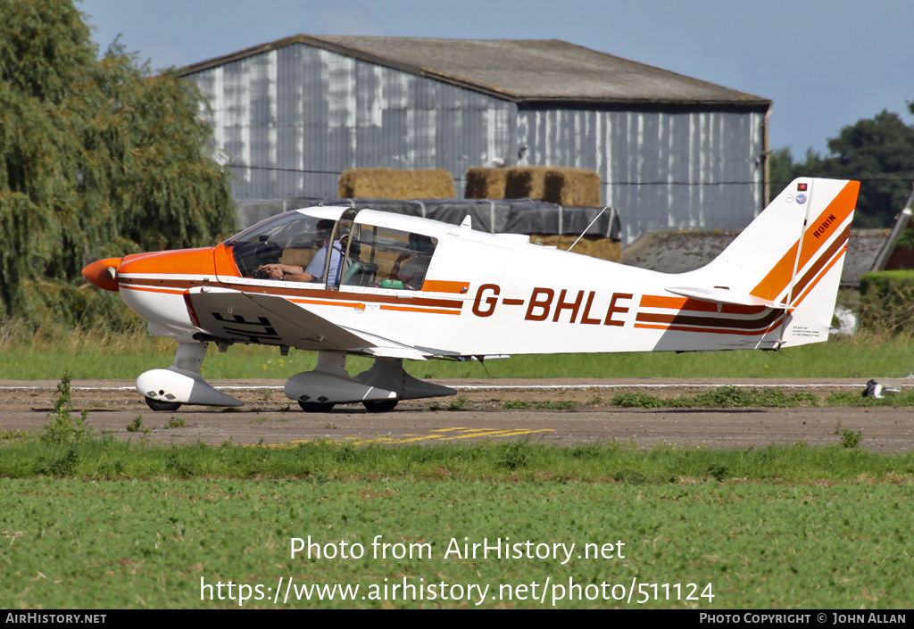
<svg viewBox="0 0 914 629">
<path fill-rule="evenodd" d="M 2 340 L 2 339 L 0 339 Z M 62 341 L 0 342 L 0 379 L 136 378 L 171 364 L 175 344 L 143 332 L 110 337 L 78 334 Z M 264 346 L 210 346 L 202 373 L 207 378 L 289 378 L 314 368 L 314 352 Z M 346 368 L 369 368 L 350 357 Z M 782 352 L 576 354 L 519 356 L 487 361 L 405 361 L 418 378 L 903 378 L 914 372 L 914 341 L 867 336 Z"/>
</svg>

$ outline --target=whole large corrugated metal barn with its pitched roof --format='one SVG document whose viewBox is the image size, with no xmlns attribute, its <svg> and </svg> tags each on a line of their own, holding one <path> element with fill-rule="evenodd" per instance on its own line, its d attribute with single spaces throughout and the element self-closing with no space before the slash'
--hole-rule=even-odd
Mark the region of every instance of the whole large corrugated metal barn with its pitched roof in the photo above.
<svg viewBox="0 0 914 629">
<path fill-rule="evenodd" d="M 337 196 L 349 168 L 600 174 L 623 240 L 742 229 L 764 207 L 771 101 L 549 40 L 296 35 L 188 66 L 236 200 Z"/>
</svg>

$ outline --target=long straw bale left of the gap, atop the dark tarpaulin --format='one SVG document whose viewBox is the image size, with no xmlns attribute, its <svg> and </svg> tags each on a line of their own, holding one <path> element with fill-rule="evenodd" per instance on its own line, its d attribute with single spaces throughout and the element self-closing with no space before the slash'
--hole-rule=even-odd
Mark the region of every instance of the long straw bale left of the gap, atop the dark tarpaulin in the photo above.
<svg viewBox="0 0 914 629">
<path fill-rule="evenodd" d="M 340 198 L 453 198 L 451 174 L 441 168 L 350 168 L 337 185 Z"/>
</svg>

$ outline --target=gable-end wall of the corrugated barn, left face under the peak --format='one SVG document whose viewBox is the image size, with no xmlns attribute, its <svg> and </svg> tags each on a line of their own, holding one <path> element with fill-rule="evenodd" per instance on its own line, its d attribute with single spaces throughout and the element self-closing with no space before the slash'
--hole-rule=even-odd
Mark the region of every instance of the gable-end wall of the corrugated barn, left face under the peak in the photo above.
<svg viewBox="0 0 914 629">
<path fill-rule="evenodd" d="M 238 176 L 237 199 L 335 197 L 348 168 L 466 170 L 514 151 L 509 101 L 294 44 L 187 75 Z"/>
</svg>

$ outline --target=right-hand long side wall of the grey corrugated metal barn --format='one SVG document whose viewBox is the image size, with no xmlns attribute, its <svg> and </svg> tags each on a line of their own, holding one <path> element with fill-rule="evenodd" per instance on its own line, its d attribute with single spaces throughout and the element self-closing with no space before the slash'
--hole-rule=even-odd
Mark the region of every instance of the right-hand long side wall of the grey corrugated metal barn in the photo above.
<svg viewBox="0 0 914 629">
<path fill-rule="evenodd" d="M 627 241 L 648 229 L 742 229 L 762 208 L 764 120 L 683 107 L 522 109 L 519 164 L 598 172 Z"/>
</svg>

